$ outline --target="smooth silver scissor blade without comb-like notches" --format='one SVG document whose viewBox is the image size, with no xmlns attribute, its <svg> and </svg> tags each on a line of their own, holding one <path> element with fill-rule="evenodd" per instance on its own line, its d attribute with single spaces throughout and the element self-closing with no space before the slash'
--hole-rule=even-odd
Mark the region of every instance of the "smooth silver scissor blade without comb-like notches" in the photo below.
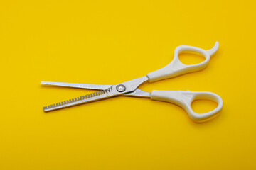
<svg viewBox="0 0 256 170">
<path fill-rule="evenodd" d="M 63 83 L 63 82 L 53 82 L 53 81 L 41 81 L 41 84 L 48 84 L 53 86 L 75 87 L 80 89 L 95 89 L 95 90 L 105 90 L 113 86 L 110 84 L 78 84 L 78 83 Z"/>
</svg>

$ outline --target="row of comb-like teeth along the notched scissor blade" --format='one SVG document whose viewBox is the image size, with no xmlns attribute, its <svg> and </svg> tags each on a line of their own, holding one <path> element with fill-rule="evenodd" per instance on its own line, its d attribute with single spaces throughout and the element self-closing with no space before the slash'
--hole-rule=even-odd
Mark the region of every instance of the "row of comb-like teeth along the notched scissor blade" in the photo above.
<svg viewBox="0 0 256 170">
<path fill-rule="evenodd" d="M 87 94 L 87 95 L 80 96 L 80 97 L 77 97 L 77 98 L 72 98 L 72 99 L 69 99 L 69 100 L 66 100 L 66 101 L 61 101 L 61 102 L 55 103 L 53 105 L 44 106 L 43 109 L 47 110 L 48 108 L 55 108 L 57 106 L 62 106 L 62 105 L 65 105 L 67 103 L 73 103 L 75 101 L 81 101 L 81 100 L 85 100 L 87 98 L 92 98 L 92 97 L 95 97 L 95 96 L 108 94 L 108 93 L 110 93 L 110 91 L 112 91 L 112 87 L 110 87 L 108 89 L 105 89 L 105 90 L 102 90 L 102 91 L 94 92 L 92 94 Z"/>
</svg>

